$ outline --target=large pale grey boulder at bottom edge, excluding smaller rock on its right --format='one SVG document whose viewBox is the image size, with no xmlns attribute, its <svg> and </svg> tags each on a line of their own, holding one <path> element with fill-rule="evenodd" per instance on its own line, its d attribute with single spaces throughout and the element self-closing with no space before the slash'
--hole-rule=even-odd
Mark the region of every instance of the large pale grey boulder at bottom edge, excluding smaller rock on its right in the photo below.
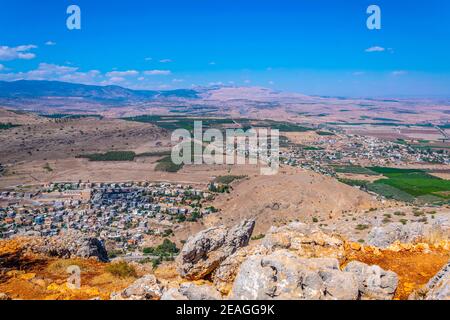
<svg viewBox="0 0 450 320">
<path fill-rule="evenodd" d="M 356 300 L 358 281 L 333 258 L 299 258 L 287 250 L 251 256 L 241 265 L 231 291 L 237 300 Z"/>
</svg>

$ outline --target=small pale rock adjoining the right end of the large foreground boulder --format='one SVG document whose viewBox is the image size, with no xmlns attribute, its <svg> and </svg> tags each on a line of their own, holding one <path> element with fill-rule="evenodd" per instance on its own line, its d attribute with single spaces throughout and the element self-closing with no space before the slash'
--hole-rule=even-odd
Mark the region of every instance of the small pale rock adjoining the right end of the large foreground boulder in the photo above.
<svg viewBox="0 0 450 320">
<path fill-rule="evenodd" d="M 392 300 L 394 297 L 398 286 L 396 273 L 359 261 L 350 262 L 344 271 L 353 273 L 358 279 L 362 300 Z"/>
</svg>

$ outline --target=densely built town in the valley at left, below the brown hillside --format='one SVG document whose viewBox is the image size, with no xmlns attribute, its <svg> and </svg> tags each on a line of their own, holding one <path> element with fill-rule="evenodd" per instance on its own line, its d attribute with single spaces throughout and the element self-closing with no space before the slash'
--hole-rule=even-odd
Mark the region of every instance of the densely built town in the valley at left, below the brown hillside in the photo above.
<svg viewBox="0 0 450 320">
<path fill-rule="evenodd" d="M 182 221 L 213 212 L 212 193 L 169 183 L 56 183 L 35 192 L 0 193 L 0 237 L 52 236 L 79 230 L 112 244 L 138 246 L 145 235 L 164 235 Z"/>
</svg>

